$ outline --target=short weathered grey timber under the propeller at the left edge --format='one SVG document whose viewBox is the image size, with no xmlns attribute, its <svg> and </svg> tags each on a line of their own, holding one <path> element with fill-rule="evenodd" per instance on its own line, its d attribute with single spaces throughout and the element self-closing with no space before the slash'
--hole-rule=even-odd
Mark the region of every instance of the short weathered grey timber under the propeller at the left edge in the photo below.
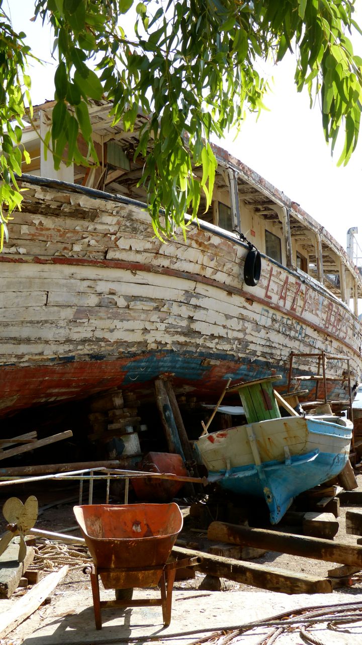
<svg viewBox="0 0 362 645">
<path fill-rule="evenodd" d="M 34 550 L 32 546 L 26 548 L 24 562 L 19 562 L 18 553 L 19 537 L 15 537 L 6 551 L 0 555 L 0 598 L 10 598 L 24 572 L 33 562 Z"/>
</svg>

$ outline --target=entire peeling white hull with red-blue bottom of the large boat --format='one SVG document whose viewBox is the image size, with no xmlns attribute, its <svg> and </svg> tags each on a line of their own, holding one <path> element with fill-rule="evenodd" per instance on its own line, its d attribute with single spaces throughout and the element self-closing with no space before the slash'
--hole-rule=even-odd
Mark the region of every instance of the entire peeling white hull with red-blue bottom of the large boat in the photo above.
<svg viewBox="0 0 362 645">
<path fill-rule="evenodd" d="M 259 283 L 247 286 L 248 248 L 233 233 L 200 223 L 164 244 L 141 204 L 94 194 L 29 184 L 9 226 L 2 415 L 115 386 L 146 395 L 160 373 L 214 401 L 221 379 L 286 378 L 291 350 L 348 355 L 359 381 L 359 323 L 314 279 L 263 256 Z M 336 361 L 330 374 L 344 367 Z"/>
</svg>

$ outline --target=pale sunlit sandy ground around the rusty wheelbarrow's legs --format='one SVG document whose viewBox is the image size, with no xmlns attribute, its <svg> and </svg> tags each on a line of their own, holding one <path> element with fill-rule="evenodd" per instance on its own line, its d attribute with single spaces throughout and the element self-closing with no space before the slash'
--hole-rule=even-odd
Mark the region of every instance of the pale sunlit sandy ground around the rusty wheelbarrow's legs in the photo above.
<svg viewBox="0 0 362 645">
<path fill-rule="evenodd" d="M 362 490 L 362 475 L 359 479 L 359 490 Z M 32 491 L 33 492 L 33 491 Z M 74 491 L 57 493 L 59 497 L 70 497 Z M 36 493 L 35 493 L 36 494 Z M 8 495 L 10 497 L 10 495 Z M 49 499 L 52 491 L 48 491 Z M 26 499 L 26 495 L 19 495 Z M 40 506 L 46 506 L 47 495 L 43 495 Z M 37 527 L 44 530 L 64 531 L 74 526 L 73 503 L 68 502 L 56 507 L 44 509 L 39 515 Z M 3 501 L 0 501 L 2 506 Z M 356 507 L 354 507 L 356 508 Z M 339 531 L 335 540 L 348 544 L 356 544 L 356 536 L 345 533 L 345 512 L 341 508 L 339 516 Z M 0 530 L 3 526 L 0 526 Z M 75 529 L 68 531 L 79 535 Z M 194 533 L 195 535 L 195 533 Z M 314 561 L 307 558 L 293 557 L 284 553 L 266 553 L 265 556 L 252 562 L 260 564 L 271 563 L 273 567 L 300 571 L 312 575 L 327 576 L 327 571 L 338 564 Z M 43 573 L 42 575 L 46 575 Z M 82 565 L 70 569 L 68 575 L 55 588 L 48 604 L 43 604 L 32 617 L 25 620 L 17 629 L 9 633 L 5 639 L 0 639 L 1 645 L 88 645 L 91 643 L 132 642 L 139 640 L 147 642 L 148 637 L 158 643 L 180 643 L 188 645 L 196 643 L 200 637 L 207 635 L 205 630 L 225 630 L 228 626 L 240 626 L 245 622 L 265 619 L 281 611 L 292 611 L 298 607 L 333 605 L 344 602 L 362 603 L 362 581 L 352 588 L 342 588 L 333 594 L 319 595 L 286 595 L 271 591 L 259 590 L 242 584 L 233 583 L 228 591 L 201 591 L 199 586 L 204 575 L 196 573 L 195 579 L 178 581 L 173 593 L 172 621 L 166 630 L 162 626 L 160 607 L 128 608 L 126 610 L 103 610 L 103 628 L 95 630 L 93 619 L 93 602 L 91 598 L 90 579 L 82 573 Z M 19 592 L 22 593 L 22 592 Z M 112 599 L 113 590 L 102 590 L 101 599 Z M 157 590 L 136 590 L 135 598 L 159 597 Z M 1 616 L 6 615 L 18 597 L 0 600 Z M 319 624 L 312 630 L 323 645 L 347 644 L 360 645 L 362 642 L 361 623 L 347 626 L 350 633 L 332 631 L 327 624 Z M 346 629 L 346 628 L 344 628 Z M 189 631 L 199 630 L 200 633 Z M 271 634 L 271 628 L 258 628 L 248 632 L 238 639 L 238 642 L 256 645 L 263 642 Z M 175 636 L 172 636 L 175 635 Z M 278 645 L 285 643 L 300 645 L 300 627 L 282 633 L 278 637 Z M 221 645 L 221 641 L 220 641 Z"/>
</svg>

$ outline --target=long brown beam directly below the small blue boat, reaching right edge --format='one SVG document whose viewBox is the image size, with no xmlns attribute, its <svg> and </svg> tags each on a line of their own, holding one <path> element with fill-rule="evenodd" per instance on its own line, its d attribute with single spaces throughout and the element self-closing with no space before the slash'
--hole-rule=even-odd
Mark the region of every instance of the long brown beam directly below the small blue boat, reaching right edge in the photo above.
<svg viewBox="0 0 362 645">
<path fill-rule="evenodd" d="M 211 522 L 207 531 L 209 540 L 230 542 L 242 546 L 256 546 L 267 551 L 290 553 L 314 560 L 362 566 L 362 548 L 352 544 L 331 542 L 318 537 L 278 533 L 260 528 L 246 528 L 226 522 Z"/>
</svg>

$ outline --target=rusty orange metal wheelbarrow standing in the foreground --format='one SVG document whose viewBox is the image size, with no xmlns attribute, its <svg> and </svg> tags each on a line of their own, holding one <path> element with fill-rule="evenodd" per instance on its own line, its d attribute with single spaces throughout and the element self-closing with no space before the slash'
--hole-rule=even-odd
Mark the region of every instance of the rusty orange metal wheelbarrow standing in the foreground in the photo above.
<svg viewBox="0 0 362 645">
<path fill-rule="evenodd" d="M 162 606 L 164 625 L 171 622 L 176 568 L 200 559 L 167 562 L 183 518 L 177 504 L 90 504 L 74 506 L 75 518 L 93 558 L 90 573 L 95 627 L 102 629 L 102 607 Z M 99 575 L 115 600 L 100 601 Z M 160 599 L 131 600 L 134 587 L 160 586 Z"/>
</svg>

